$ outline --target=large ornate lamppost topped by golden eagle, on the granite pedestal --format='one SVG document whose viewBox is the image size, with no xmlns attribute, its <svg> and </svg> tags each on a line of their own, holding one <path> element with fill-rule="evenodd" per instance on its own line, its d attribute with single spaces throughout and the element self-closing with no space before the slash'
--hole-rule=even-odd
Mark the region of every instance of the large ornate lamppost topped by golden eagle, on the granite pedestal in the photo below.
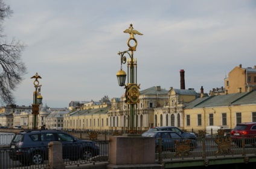
<svg viewBox="0 0 256 169">
<path fill-rule="evenodd" d="M 130 121 L 129 121 L 129 132 L 135 132 L 135 104 L 139 103 L 139 85 L 137 84 L 137 59 L 133 58 L 133 51 L 136 51 L 137 40 L 135 39 L 134 35 L 139 34 L 136 30 L 133 30 L 132 24 L 130 24 L 129 29 L 126 29 L 124 33 L 129 33 L 130 38 L 127 40 L 127 45 L 129 49 L 127 51 L 119 52 L 118 55 L 121 56 L 121 69 L 117 72 L 117 80 L 119 86 L 125 86 L 126 89 L 126 101 L 125 103 L 128 104 L 128 110 L 130 111 Z M 130 40 L 133 41 L 134 46 L 130 45 Z M 126 56 L 128 59 L 126 60 Z M 126 84 L 126 72 L 122 69 L 122 64 L 127 62 L 127 84 Z M 129 119 L 129 118 L 128 118 Z"/>
</svg>

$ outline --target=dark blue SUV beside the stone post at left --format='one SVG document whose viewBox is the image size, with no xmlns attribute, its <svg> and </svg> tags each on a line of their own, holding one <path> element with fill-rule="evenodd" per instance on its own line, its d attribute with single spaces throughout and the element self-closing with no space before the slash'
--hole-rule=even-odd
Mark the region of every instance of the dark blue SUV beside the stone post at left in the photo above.
<svg viewBox="0 0 256 169">
<path fill-rule="evenodd" d="M 19 132 L 10 143 L 9 156 L 22 164 L 42 164 L 48 159 L 48 143 L 62 143 L 63 159 L 89 159 L 99 155 L 96 142 L 80 140 L 60 130 L 27 130 Z"/>
</svg>

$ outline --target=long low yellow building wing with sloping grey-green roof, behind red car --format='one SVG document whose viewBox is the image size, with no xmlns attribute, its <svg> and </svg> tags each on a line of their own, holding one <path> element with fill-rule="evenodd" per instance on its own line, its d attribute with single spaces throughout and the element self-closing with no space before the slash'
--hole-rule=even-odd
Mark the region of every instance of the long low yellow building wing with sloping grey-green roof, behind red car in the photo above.
<svg viewBox="0 0 256 169">
<path fill-rule="evenodd" d="M 184 107 L 184 129 L 234 128 L 256 121 L 256 90 L 197 98 Z"/>
</svg>

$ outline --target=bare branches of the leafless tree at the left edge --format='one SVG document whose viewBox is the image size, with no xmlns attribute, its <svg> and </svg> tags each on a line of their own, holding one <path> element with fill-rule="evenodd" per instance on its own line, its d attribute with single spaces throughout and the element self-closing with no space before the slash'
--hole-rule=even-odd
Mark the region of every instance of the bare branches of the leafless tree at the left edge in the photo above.
<svg viewBox="0 0 256 169">
<path fill-rule="evenodd" d="M 2 23 L 10 18 L 13 10 L 0 0 L 0 101 L 5 104 L 14 104 L 13 91 L 21 84 L 27 68 L 21 60 L 21 53 L 25 45 L 19 40 L 7 40 L 3 34 Z"/>
</svg>

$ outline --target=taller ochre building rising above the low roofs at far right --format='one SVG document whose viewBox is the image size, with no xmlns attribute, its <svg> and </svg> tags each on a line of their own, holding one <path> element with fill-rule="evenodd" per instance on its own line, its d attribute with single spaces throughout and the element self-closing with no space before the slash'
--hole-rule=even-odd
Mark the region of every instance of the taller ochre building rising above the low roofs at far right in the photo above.
<svg viewBox="0 0 256 169">
<path fill-rule="evenodd" d="M 256 89 L 256 66 L 253 68 L 236 66 L 229 72 L 228 78 L 225 78 L 225 89 L 228 94 Z"/>
</svg>

